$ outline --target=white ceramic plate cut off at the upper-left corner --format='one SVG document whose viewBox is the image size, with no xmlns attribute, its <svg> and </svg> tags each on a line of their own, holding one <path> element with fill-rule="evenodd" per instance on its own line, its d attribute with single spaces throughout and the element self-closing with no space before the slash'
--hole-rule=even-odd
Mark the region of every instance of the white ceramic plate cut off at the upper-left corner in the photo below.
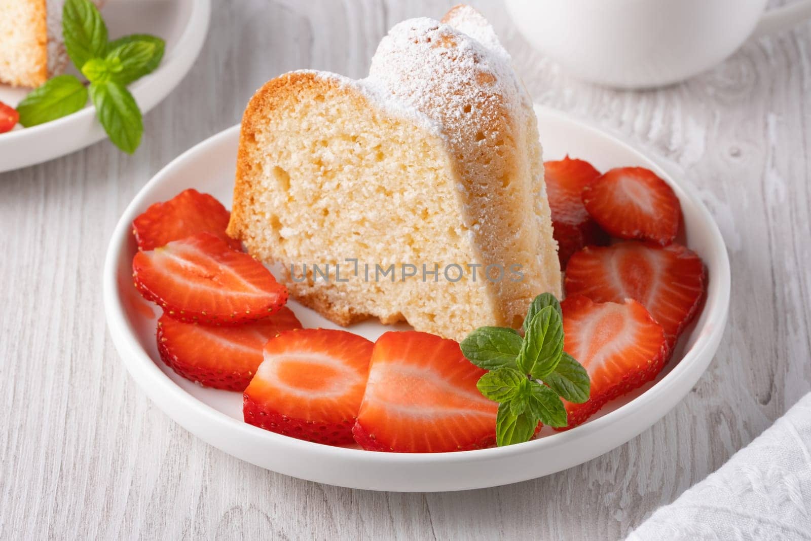
<svg viewBox="0 0 811 541">
<path fill-rule="evenodd" d="M 113 39 L 145 32 L 166 40 L 161 66 L 129 87 L 145 114 L 172 92 L 200 54 L 211 0 L 109 0 L 101 13 Z M 8 105 L 17 105 L 27 93 L 0 84 L 0 101 Z M 91 105 L 39 126 L 18 126 L 0 134 L 0 173 L 64 156 L 106 136 Z"/>
</svg>

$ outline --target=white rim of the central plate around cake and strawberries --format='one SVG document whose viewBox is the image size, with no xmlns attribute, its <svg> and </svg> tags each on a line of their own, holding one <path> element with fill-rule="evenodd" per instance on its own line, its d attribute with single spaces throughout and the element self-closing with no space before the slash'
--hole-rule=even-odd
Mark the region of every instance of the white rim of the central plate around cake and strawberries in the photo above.
<svg viewBox="0 0 811 541">
<path fill-rule="evenodd" d="M 667 180 L 668 184 L 671 185 L 674 190 L 676 190 L 680 198 L 690 200 L 695 208 L 697 208 L 698 213 L 702 217 L 702 221 L 705 221 L 706 224 L 709 225 L 706 233 L 710 235 L 710 246 L 713 247 L 713 251 L 718 252 L 717 255 L 719 255 L 719 257 L 718 268 L 713 268 L 713 277 L 710 280 L 710 285 L 706 292 L 706 298 L 702 311 L 710 310 L 710 312 L 707 312 L 706 314 L 706 322 L 713 322 L 714 325 L 706 333 L 701 333 L 697 337 L 693 346 L 684 352 L 682 358 L 671 371 L 663 376 L 661 380 L 655 382 L 650 389 L 647 389 L 640 396 L 635 397 L 628 403 L 617 407 L 616 410 L 610 411 L 597 419 L 590 420 L 589 422 L 583 423 L 571 430 L 556 432 L 555 434 L 545 436 L 539 440 L 532 440 L 521 444 L 489 449 L 475 449 L 470 451 L 453 451 L 449 453 L 372 453 L 361 449 L 347 449 L 317 444 L 304 440 L 297 440 L 289 436 L 281 436 L 273 432 L 268 432 L 259 427 L 254 427 L 248 423 L 234 419 L 229 415 L 213 408 L 212 406 L 209 406 L 205 402 L 200 401 L 190 393 L 187 393 L 185 389 L 182 389 L 178 384 L 166 376 L 163 371 L 161 371 L 161 368 L 157 366 L 157 363 L 153 361 L 147 352 L 140 346 L 135 333 L 132 331 L 122 305 L 122 299 L 119 298 L 117 294 L 118 255 L 122 249 L 124 249 L 124 244 L 127 243 L 127 238 L 130 234 L 131 219 L 135 216 L 136 211 L 144 206 L 144 200 L 146 199 L 148 192 L 151 191 L 151 188 L 160 183 L 163 178 L 171 176 L 174 173 L 174 170 L 181 169 L 188 160 L 193 159 L 197 152 L 200 152 L 209 146 L 219 144 L 221 140 L 227 140 L 234 137 L 234 132 L 238 132 L 239 130 L 239 124 L 226 128 L 225 130 L 208 137 L 200 143 L 195 144 L 193 147 L 174 158 L 173 161 L 170 161 L 168 165 L 165 165 L 164 168 L 158 171 L 158 173 L 155 174 L 144 185 L 144 187 L 141 188 L 133 200 L 127 204 L 122 216 L 119 218 L 118 224 L 115 226 L 114 232 L 110 237 L 107 254 L 105 255 L 105 264 L 103 268 L 104 275 L 102 277 L 102 282 L 107 327 L 111 337 L 113 338 L 114 346 L 122 358 L 122 362 L 125 364 L 125 366 L 127 366 L 127 370 L 130 372 L 136 383 L 139 384 L 139 387 L 141 387 L 141 389 L 148 394 L 152 401 L 156 401 L 157 405 L 161 407 L 161 410 L 168 414 L 170 418 L 181 424 L 181 426 L 187 428 L 187 430 L 195 434 L 196 437 L 200 437 L 200 439 L 207 441 L 209 444 L 214 445 L 218 449 L 222 448 L 220 445 L 212 442 L 213 438 L 201 435 L 200 433 L 191 430 L 191 428 L 187 426 L 187 424 L 191 423 L 184 423 L 179 420 L 181 414 L 178 414 L 177 410 L 167 407 L 165 406 L 165 402 L 161 402 L 153 398 L 155 393 L 167 393 L 164 395 L 164 398 L 168 396 L 169 399 L 173 401 L 174 406 L 183 405 L 197 409 L 198 414 L 204 416 L 203 421 L 208 423 L 208 427 L 215 430 L 220 430 L 222 427 L 225 427 L 236 431 L 240 436 L 245 436 L 252 439 L 260 437 L 260 439 L 270 440 L 273 443 L 284 444 L 287 446 L 290 452 L 300 450 L 308 453 L 328 453 L 337 459 L 362 459 L 363 462 L 370 462 L 374 463 L 375 465 L 383 466 L 397 466 L 405 464 L 410 466 L 418 466 L 421 464 L 436 465 L 437 463 L 459 461 L 480 462 L 491 461 L 494 458 L 514 457 L 517 455 L 524 455 L 526 453 L 539 453 L 544 450 L 554 449 L 556 447 L 560 447 L 561 445 L 565 445 L 571 440 L 581 440 L 581 438 L 584 437 L 587 438 L 590 432 L 600 432 L 607 427 L 615 425 L 616 423 L 622 423 L 624 419 L 633 415 L 635 412 L 644 409 L 646 406 L 649 406 L 651 402 L 656 401 L 659 399 L 659 397 L 665 395 L 669 390 L 679 387 L 680 384 L 684 384 L 685 380 L 690 380 L 692 378 L 693 380 L 690 381 L 689 384 L 689 386 L 692 387 L 697 380 L 701 378 L 706 371 L 706 368 L 709 366 L 715 351 L 718 349 L 719 342 L 723 337 L 723 332 L 727 324 L 731 292 L 731 273 L 726 244 L 723 241 L 723 236 L 720 233 L 718 225 L 714 221 L 709 210 L 706 208 L 706 205 L 698 197 L 696 189 L 688 184 L 683 185 L 682 183 L 676 181 L 675 177 L 670 174 L 669 170 L 662 165 L 662 162 L 657 157 L 650 157 L 645 152 L 638 150 L 635 146 L 633 146 L 633 144 L 629 144 L 620 136 L 611 133 L 611 131 L 608 131 L 603 127 L 596 127 L 590 122 L 573 117 L 571 114 L 566 114 L 562 111 L 551 109 L 550 107 L 543 105 L 535 105 L 534 109 L 536 114 L 549 115 L 565 122 L 571 122 L 582 129 L 593 132 L 595 135 L 607 137 L 613 144 L 621 145 L 626 150 L 633 152 L 633 154 L 643 158 L 645 161 L 653 163 L 657 169 L 657 173 Z M 712 300 L 712 303 L 710 303 L 710 300 Z M 693 365 L 699 361 L 703 361 L 703 366 L 700 367 L 700 370 L 696 371 L 696 368 L 694 368 Z M 140 368 L 141 371 L 137 371 L 136 368 Z M 140 380 L 146 380 L 148 378 L 150 379 L 150 386 L 140 382 Z M 681 401 L 684 396 L 686 396 L 686 393 L 681 394 L 674 402 L 674 406 L 670 406 L 665 411 L 665 414 L 667 411 L 672 410 L 672 407 L 675 407 L 675 404 Z M 663 414 L 657 415 L 653 423 L 662 417 Z M 198 419 L 198 421 L 200 421 L 200 419 Z M 640 427 L 635 435 L 643 432 L 653 423 Z M 616 446 L 614 448 L 616 448 Z M 229 451 L 225 452 L 233 454 Z M 599 453 L 595 456 L 599 456 L 600 454 L 603 453 Z M 252 462 L 246 458 L 238 458 L 240 460 Z M 262 466 L 261 464 L 257 464 L 257 466 L 266 468 L 266 466 Z"/>
</svg>

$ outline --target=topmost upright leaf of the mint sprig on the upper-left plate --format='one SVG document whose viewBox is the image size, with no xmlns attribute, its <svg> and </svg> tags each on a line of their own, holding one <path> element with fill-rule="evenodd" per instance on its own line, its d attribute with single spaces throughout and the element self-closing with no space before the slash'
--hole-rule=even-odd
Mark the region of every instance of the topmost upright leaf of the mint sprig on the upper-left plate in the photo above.
<svg viewBox="0 0 811 541">
<path fill-rule="evenodd" d="M 79 71 L 85 62 L 103 57 L 107 50 L 107 25 L 90 0 L 66 0 L 62 7 L 62 36 L 67 55 Z"/>
</svg>

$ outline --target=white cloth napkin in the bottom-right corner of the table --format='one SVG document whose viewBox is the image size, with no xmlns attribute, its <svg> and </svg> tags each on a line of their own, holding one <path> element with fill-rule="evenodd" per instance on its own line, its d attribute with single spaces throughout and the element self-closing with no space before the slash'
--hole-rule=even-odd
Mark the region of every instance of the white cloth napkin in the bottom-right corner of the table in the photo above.
<svg viewBox="0 0 811 541">
<path fill-rule="evenodd" d="M 627 539 L 811 539 L 811 393 Z"/>
</svg>

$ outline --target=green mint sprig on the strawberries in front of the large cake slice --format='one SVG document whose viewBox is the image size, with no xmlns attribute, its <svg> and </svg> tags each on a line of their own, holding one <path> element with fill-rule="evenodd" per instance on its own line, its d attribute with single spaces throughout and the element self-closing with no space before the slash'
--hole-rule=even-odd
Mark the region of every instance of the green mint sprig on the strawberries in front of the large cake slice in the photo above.
<svg viewBox="0 0 811 541">
<path fill-rule="evenodd" d="M 488 370 L 476 387 L 499 402 L 498 445 L 530 440 L 538 423 L 565 427 L 561 397 L 575 403 L 589 399 L 586 368 L 563 350 L 563 311 L 554 295 L 534 298 L 523 328 L 524 337 L 512 328 L 479 327 L 461 342 L 465 357 Z"/>
</svg>

